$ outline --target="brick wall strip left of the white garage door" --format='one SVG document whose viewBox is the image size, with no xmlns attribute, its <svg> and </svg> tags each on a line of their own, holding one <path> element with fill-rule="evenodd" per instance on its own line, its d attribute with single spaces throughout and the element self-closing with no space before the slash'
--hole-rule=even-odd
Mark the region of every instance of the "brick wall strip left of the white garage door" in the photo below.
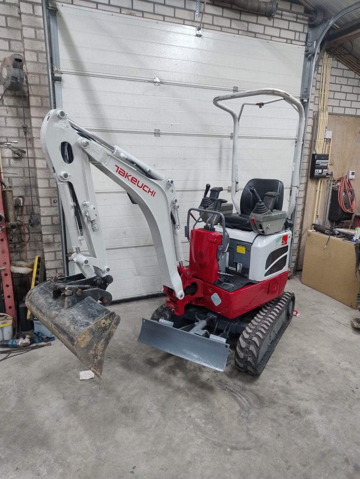
<svg viewBox="0 0 360 479">
<path fill-rule="evenodd" d="M 11 53 L 24 57 L 25 82 L 21 92 L 7 91 L 0 105 L 0 141 L 18 140 L 25 147 L 22 131 L 22 98 L 28 125 L 28 150 L 35 213 L 41 216 L 41 226 L 30 228 L 27 256 L 44 255 L 49 276 L 61 269 L 60 234 L 56 188 L 50 179 L 40 147 L 40 126 L 49 110 L 46 73 L 44 24 L 40 1 L 14 2 L 6 0 L 0 7 L 0 58 Z M 2 87 L 1 87 L 2 93 Z M 15 159 L 9 148 L 1 147 L 3 176 L 14 187 L 14 195 L 24 197 L 24 217 L 28 222 L 32 211 L 29 173 L 26 155 Z M 20 218 L 19 218 L 20 219 Z M 17 251 L 12 259 L 24 259 L 25 252 Z"/>
</svg>

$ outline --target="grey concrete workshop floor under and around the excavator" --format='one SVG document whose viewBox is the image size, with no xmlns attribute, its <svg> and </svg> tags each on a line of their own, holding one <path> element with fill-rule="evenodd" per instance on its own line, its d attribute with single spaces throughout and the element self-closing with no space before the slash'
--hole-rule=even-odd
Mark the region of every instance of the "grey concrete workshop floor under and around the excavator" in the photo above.
<svg viewBox="0 0 360 479">
<path fill-rule="evenodd" d="M 122 319 L 103 379 L 59 341 L 0 365 L 0 478 L 360 478 L 358 311 L 294 278 L 300 316 L 258 378 L 136 341 L 162 298 Z"/>
</svg>

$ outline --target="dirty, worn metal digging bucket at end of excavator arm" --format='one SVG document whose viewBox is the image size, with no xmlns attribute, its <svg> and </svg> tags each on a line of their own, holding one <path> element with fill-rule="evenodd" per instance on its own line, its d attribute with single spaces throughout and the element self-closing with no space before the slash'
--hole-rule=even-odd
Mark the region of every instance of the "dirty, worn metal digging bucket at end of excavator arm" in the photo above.
<svg viewBox="0 0 360 479">
<path fill-rule="evenodd" d="M 53 298 L 53 283 L 31 289 L 25 304 L 65 346 L 101 379 L 105 350 L 119 325 L 120 316 L 92 297 Z"/>
</svg>

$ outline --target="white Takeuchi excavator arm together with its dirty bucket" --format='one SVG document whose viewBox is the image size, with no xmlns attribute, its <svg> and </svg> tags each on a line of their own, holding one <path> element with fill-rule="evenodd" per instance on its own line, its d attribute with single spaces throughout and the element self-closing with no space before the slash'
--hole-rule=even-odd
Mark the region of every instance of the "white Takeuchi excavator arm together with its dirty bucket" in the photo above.
<svg viewBox="0 0 360 479">
<path fill-rule="evenodd" d="M 120 317 L 104 308 L 112 299 L 106 288 L 113 278 L 107 264 L 90 163 L 139 205 L 151 231 L 163 285 L 182 299 L 184 291 L 177 265 L 182 265 L 183 251 L 174 181 L 76 125 L 61 109 L 46 115 L 41 143 L 57 183 L 67 233 L 75 250 L 71 258 L 81 274 L 56 275 L 30 290 L 25 302 L 34 316 L 101 377 L 105 349 Z M 81 252 L 84 241 L 89 254 Z"/>
</svg>

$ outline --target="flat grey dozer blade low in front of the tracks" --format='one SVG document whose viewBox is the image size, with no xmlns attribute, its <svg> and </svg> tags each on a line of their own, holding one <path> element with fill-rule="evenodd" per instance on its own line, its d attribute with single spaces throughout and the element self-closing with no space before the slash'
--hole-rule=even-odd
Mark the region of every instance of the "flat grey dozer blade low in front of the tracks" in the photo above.
<svg viewBox="0 0 360 479">
<path fill-rule="evenodd" d="M 191 334 L 152 319 L 142 319 L 138 341 L 217 371 L 224 371 L 228 361 L 229 344 Z"/>
</svg>

